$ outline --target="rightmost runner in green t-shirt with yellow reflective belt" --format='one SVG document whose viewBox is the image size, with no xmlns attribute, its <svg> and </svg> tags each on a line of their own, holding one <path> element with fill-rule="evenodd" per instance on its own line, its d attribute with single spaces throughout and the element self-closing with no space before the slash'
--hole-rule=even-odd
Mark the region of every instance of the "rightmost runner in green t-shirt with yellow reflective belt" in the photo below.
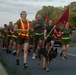
<svg viewBox="0 0 76 75">
<path fill-rule="evenodd" d="M 70 34 L 72 34 L 72 29 L 69 27 L 69 22 L 65 23 L 65 26 L 60 33 L 62 35 L 62 39 L 61 39 L 62 51 L 60 53 L 60 56 L 64 54 L 63 59 L 67 59 L 66 55 L 68 53 L 68 49 L 70 46 Z"/>
</svg>

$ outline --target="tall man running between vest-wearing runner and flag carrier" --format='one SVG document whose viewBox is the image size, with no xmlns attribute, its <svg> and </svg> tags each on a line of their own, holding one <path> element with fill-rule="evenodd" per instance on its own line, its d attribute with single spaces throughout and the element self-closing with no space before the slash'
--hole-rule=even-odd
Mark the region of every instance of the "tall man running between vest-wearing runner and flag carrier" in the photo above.
<svg viewBox="0 0 76 75">
<path fill-rule="evenodd" d="M 37 15 L 36 20 L 32 23 L 32 29 L 34 30 L 34 49 L 32 59 L 35 59 L 37 46 L 39 44 L 38 50 L 42 48 L 44 38 L 44 23 L 41 15 Z"/>
</svg>

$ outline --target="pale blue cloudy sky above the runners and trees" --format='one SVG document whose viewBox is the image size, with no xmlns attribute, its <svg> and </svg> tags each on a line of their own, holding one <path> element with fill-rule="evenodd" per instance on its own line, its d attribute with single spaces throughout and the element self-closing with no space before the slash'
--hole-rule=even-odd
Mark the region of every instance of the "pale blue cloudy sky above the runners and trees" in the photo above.
<svg viewBox="0 0 76 75">
<path fill-rule="evenodd" d="M 27 19 L 35 19 L 37 11 L 43 6 L 64 7 L 76 0 L 0 0 L 0 27 L 9 24 L 10 21 L 15 23 L 20 18 L 22 11 L 27 12 Z"/>
</svg>

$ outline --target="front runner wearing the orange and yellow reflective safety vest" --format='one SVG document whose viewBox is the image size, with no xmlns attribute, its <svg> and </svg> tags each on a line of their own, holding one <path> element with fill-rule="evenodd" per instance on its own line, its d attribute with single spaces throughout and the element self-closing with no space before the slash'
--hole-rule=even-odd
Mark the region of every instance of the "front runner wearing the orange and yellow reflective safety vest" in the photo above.
<svg viewBox="0 0 76 75">
<path fill-rule="evenodd" d="M 19 65 L 19 55 L 21 51 L 21 47 L 24 47 L 24 64 L 23 67 L 27 68 L 27 50 L 29 46 L 29 21 L 26 19 L 27 13 L 26 11 L 22 11 L 20 14 L 20 19 L 15 23 L 14 31 L 18 33 L 18 49 L 16 56 L 16 64 Z"/>
</svg>

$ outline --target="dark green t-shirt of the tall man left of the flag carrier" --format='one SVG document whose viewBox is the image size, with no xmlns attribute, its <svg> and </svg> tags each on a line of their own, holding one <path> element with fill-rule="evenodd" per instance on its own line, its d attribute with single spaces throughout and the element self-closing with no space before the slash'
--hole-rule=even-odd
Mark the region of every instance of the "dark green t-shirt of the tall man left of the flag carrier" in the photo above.
<svg viewBox="0 0 76 75">
<path fill-rule="evenodd" d="M 32 27 L 36 26 L 37 24 L 39 24 L 38 27 L 35 27 L 34 28 L 34 32 L 35 33 L 43 33 L 44 29 L 43 29 L 43 26 L 44 26 L 44 23 L 43 21 L 38 21 L 38 20 L 35 20 L 33 23 L 32 23 Z"/>
</svg>

